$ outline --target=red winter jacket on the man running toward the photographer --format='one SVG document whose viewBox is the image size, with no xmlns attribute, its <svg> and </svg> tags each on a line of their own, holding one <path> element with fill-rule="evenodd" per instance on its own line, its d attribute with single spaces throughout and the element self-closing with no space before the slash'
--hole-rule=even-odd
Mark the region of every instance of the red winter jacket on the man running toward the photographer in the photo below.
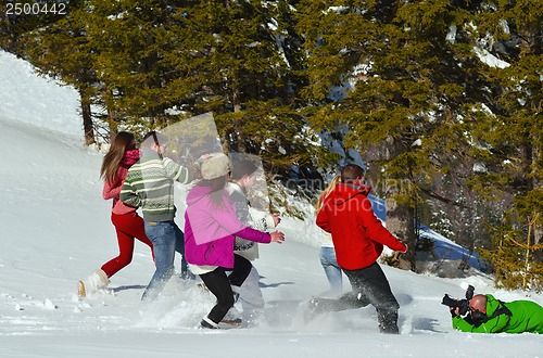
<svg viewBox="0 0 543 358">
<path fill-rule="evenodd" d="M 375 216 L 367 197 L 370 190 L 338 183 L 317 214 L 317 226 L 332 234 L 338 265 L 346 270 L 372 265 L 383 245 L 400 252 L 407 250 Z"/>
</svg>

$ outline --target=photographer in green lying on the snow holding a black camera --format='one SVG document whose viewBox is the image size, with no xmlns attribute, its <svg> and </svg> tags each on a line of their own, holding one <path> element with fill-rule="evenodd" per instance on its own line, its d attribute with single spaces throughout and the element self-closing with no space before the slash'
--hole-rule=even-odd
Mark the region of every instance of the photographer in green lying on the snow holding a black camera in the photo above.
<svg viewBox="0 0 543 358">
<path fill-rule="evenodd" d="M 463 332 L 543 333 L 543 307 L 531 301 L 504 303 L 490 294 L 454 301 L 445 295 L 442 304 L 451 310 L 453 328 Z"/>
</svg>

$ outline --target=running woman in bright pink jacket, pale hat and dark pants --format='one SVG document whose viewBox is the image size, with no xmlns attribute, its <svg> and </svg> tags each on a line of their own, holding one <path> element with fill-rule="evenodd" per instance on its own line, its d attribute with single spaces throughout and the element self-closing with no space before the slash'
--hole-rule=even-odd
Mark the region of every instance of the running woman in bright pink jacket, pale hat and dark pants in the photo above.
<svg viewBox="0 0 543 358">
<path fill-rule="evenodd" d="M 225 154 L 202 157 L 200 170 L 203 180 L 187 195 L 185 256 L 190 270 L 199 274 L 217 297 L 217 304 L 200 323 L 202 328 L 216 329 L 233 306 L 235 296 L 252 268 L 247 258 L 233 254 L 235 236 L 261 243 L 281 243 L 285 234 L 252 229 L 236 216 L 225 189 L 230 170 Z M 227 276 L 226 271 L 231 273 Z"/>
</svg>

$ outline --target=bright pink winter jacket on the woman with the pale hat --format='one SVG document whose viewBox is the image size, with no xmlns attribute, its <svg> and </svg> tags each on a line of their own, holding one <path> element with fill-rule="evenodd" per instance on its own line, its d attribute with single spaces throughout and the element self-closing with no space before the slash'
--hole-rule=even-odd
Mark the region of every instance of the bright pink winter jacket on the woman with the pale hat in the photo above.
<svg viewBox="0 0 543 358">
<path fill-rule="evenodd" d="M 211 188 L 197 186 L 187 195 L 185 212 L 185 258 L 192 265 L 233 267 L 235 236 L 269 243 L 269 233 L 244 226 L 236 216 L 228 192 L 223 192 L 223 205 L 217 207 Z"/>
</svg>

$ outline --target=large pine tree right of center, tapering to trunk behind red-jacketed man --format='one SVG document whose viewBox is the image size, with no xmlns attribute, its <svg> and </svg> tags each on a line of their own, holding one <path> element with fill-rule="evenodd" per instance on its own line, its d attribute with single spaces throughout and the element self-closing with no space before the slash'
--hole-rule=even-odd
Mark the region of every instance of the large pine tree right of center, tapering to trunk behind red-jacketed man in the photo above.
<svg viewBox="0 0 543 358">
<path fill-rule="evenodd" d="M 313 124 L 346 127 L 350 148 L 380 149 L 374 165 L 386 170 L 387 226 L 414 248 L 420 192 L 449 170 L 446 159 L 466 142 L 458 118 L 481 99 L 472 90 L 470 44 L 452 31 L 468 13 L 449 1 L 302 4 L 300 30 L 311 53 L 305 92 L 325 104 Z M 330 100 L 332 87 L 343 88 L 342 97 Z"/>
</svg>

